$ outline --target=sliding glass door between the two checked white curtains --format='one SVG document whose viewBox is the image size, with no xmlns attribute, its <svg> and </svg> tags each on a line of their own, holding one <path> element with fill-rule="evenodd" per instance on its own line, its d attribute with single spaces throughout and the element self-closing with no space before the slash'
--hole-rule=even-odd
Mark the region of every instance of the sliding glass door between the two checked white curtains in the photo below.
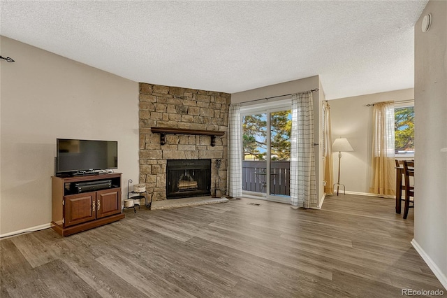
<svg viewBox="0 0 447 298">
<path fill-rule="evenodd" d="M 290 200 L 290 106 L 242 113 L 242 190 L 271 201 Z"/>
</svg>

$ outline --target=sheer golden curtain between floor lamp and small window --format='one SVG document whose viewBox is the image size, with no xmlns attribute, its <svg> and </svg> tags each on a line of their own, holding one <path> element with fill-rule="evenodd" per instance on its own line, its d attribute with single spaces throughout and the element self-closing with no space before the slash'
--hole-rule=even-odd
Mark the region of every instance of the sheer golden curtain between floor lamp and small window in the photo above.
<svg viewBox="0 0 447 298">
<path fill-rule="evenodd" d="M 395 194 L 394 157 L 394 101 L 374 104 L 372 136 L 372 184 L 373 194 Z"/>
</svg>

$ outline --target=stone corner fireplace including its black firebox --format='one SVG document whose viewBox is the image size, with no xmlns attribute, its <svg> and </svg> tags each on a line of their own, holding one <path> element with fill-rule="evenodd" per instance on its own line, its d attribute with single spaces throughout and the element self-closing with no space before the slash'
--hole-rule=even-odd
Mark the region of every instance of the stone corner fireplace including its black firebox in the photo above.
<svg viewBox="0 0 447 298">
<path fill-rule="evenodd" d="M 154 201 L 198 197 L 215 195 L 216 190 L 226 194 L 230 94 L 140 83 L 139 105 L 140 183 L 146 184 L 149 197 Z M 163 135 L 152 132 L 152 127 L 183 132 Z M 176 161 L 186 163 L 187 169 L 168 173 Z M 192 169 L 191 162 L 209 164 L 205 178 L 196 177 L 203 169 Z"/>
</svg>

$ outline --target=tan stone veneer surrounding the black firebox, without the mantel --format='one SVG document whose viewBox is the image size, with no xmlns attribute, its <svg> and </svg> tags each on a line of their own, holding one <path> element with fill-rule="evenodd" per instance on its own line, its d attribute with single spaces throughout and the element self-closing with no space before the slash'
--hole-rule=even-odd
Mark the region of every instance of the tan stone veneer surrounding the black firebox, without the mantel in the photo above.
<svg viewBox="0 0 447 298">
<path fill-rule="evenodd" d="M 167 159 L 211 159 L 213 195 L 216 161 L 221 159 L 217 188 L 226 194 L 227 134 L 217 136 L 214 147 L 210 136 L 166 134 L 161 146 L 160 134 L 152 134 L 151 127 L 227 132 L 230 100 L 222 92 L 140 83 L 140 183 L 152 200 L 166 199 Z"/>
</svg>

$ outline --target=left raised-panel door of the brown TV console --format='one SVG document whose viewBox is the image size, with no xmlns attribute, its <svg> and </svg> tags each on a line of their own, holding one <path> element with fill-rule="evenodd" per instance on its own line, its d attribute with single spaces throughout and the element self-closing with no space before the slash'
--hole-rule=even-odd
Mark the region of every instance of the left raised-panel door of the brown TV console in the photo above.
<svg viewBox="0 0 447 298">
<path fill-rule="evenodd" d="M 96 192 L 64 197 L 64 227 L 96 219 Z"/>
</svg>

